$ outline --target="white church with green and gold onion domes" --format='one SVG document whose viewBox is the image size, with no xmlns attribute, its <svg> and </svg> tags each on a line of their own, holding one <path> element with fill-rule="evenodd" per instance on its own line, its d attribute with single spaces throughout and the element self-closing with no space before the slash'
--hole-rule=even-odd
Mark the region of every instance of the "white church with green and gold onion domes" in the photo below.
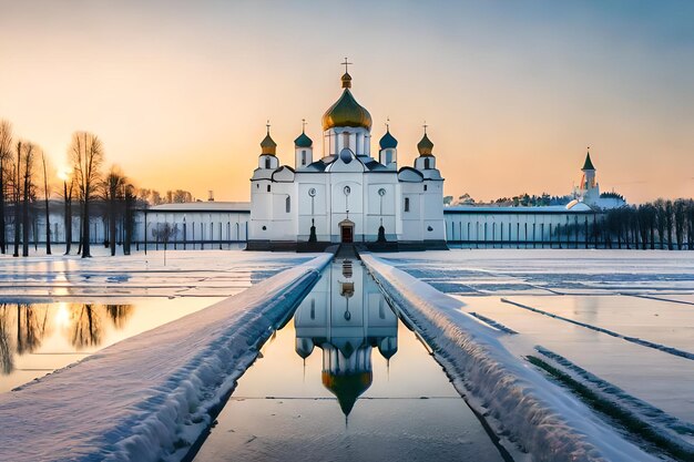
<svg viewBox="0 0 694 462">
<path fill-rule="evenodd" d="M 351 94 L 351 76 L 323 115 L 324 152 L 305 130 L 294 165 L 280 165 L 267 126 L 251 178 L 248 249 L 317 249 L 364 243 L 392 249 L 446 248 L 443 178 L 426 132 L 414 167 L 398 165 L 389 127 L 371 155 L 369 112 Z"/>
</svg>

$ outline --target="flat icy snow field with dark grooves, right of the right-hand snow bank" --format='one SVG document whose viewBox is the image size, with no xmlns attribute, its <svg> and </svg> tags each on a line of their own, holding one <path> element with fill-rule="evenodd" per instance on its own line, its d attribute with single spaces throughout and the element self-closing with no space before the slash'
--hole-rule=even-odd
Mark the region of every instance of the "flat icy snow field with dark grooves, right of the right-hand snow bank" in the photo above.
<svg viewBox="0 0 694 462">
<path fill-rule="evenodd" d="M 614 404 L 623 421 L 645 425 L 657 440 L 645 445 L 694 454 L 694 253 L 488 249 L 382 258 L 450 294 L 458 304 L 451 309 L 506 329 L 498 340 L 520 363 L 530 367 L 533 357 L 553 370 L 552 380 L 563 373 Z M 451 319 L 468 329 L 470 318 Z"/>
</svg>

